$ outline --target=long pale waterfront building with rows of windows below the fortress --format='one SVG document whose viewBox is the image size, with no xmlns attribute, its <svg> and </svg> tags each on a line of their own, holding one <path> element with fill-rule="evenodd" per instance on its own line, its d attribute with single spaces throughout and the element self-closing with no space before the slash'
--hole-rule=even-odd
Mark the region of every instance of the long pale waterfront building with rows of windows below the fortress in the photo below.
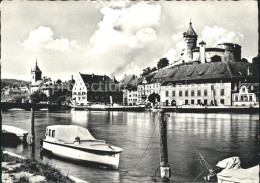
<svg viewBox="0 0 260 183">
<path fill-rule="evenodd" d="M 162 105 L 234 105 L 242 83 L 258 83 L 258 64 L 209 62 L 172 68 L 161 87 Z M 258 97 L 255 97 L 255 103 Z"/>
</svg>

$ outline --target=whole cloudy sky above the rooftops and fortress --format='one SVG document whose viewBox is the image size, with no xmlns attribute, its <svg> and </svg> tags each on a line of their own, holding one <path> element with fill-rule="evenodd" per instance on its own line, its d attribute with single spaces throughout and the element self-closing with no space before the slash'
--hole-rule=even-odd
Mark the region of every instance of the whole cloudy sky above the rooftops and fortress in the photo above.
<svg viewBox="0 0 260 183">
<path fill-rule="evenodd" d="M 140 75 L 180 58 L 190 20 L 207 47 L 240 44 L 249 61 L 258 50 L 257 1 L 4 1 L 1 9 L 2 78 L 30 80 L 36 58 L 53 80 Z"/>
</svg>

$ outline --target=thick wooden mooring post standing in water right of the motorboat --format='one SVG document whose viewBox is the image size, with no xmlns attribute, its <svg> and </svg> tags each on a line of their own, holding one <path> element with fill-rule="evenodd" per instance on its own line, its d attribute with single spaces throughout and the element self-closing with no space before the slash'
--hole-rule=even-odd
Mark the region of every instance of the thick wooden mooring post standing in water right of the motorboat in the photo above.
<svg viewBox="0 0 260 183">
<path fill-rule="evenodd" d="M 171 177 L 171 167 L 168 163 L 166 114 L 163 110 L 159 112 L 159 128 L 160 128 L 160 172 L 161 172 L 161 178 L 164 179 L 164 180 L 169 180 L 169 178 Z"/>
</svg>

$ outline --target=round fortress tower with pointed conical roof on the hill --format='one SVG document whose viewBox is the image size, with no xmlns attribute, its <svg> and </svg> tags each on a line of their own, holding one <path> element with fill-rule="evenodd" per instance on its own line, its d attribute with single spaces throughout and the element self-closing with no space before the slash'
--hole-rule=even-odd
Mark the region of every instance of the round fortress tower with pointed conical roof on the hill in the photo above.
<svg viewBox="0 0 260 183">
<path fill-rule="evenodd" d="M 192 62 L 192 49 L 196 48 L 198 35 L 193 30 L 191 21 L 188 30 L 183 33 L 183 38 L 185 44 L 183 60 L 185 63 Z"/>
</svg>

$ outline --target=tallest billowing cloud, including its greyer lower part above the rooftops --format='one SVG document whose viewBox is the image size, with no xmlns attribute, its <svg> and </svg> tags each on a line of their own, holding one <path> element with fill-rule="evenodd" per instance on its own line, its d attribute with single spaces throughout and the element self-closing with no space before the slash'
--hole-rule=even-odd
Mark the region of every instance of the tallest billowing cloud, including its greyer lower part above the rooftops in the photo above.
<svg viewBox="0 0 260 183">
<path fill-rule="evenodd" d="M 117 74 L 149 62 L 151 45 L 157 40 L 161 6 L 146 2 L 110 4 L 100 12 L 103 19 L 90 38 L 91 54 L 101 55 L 104 60 L 113 58 L 112 73 Z"/>
</svg>

